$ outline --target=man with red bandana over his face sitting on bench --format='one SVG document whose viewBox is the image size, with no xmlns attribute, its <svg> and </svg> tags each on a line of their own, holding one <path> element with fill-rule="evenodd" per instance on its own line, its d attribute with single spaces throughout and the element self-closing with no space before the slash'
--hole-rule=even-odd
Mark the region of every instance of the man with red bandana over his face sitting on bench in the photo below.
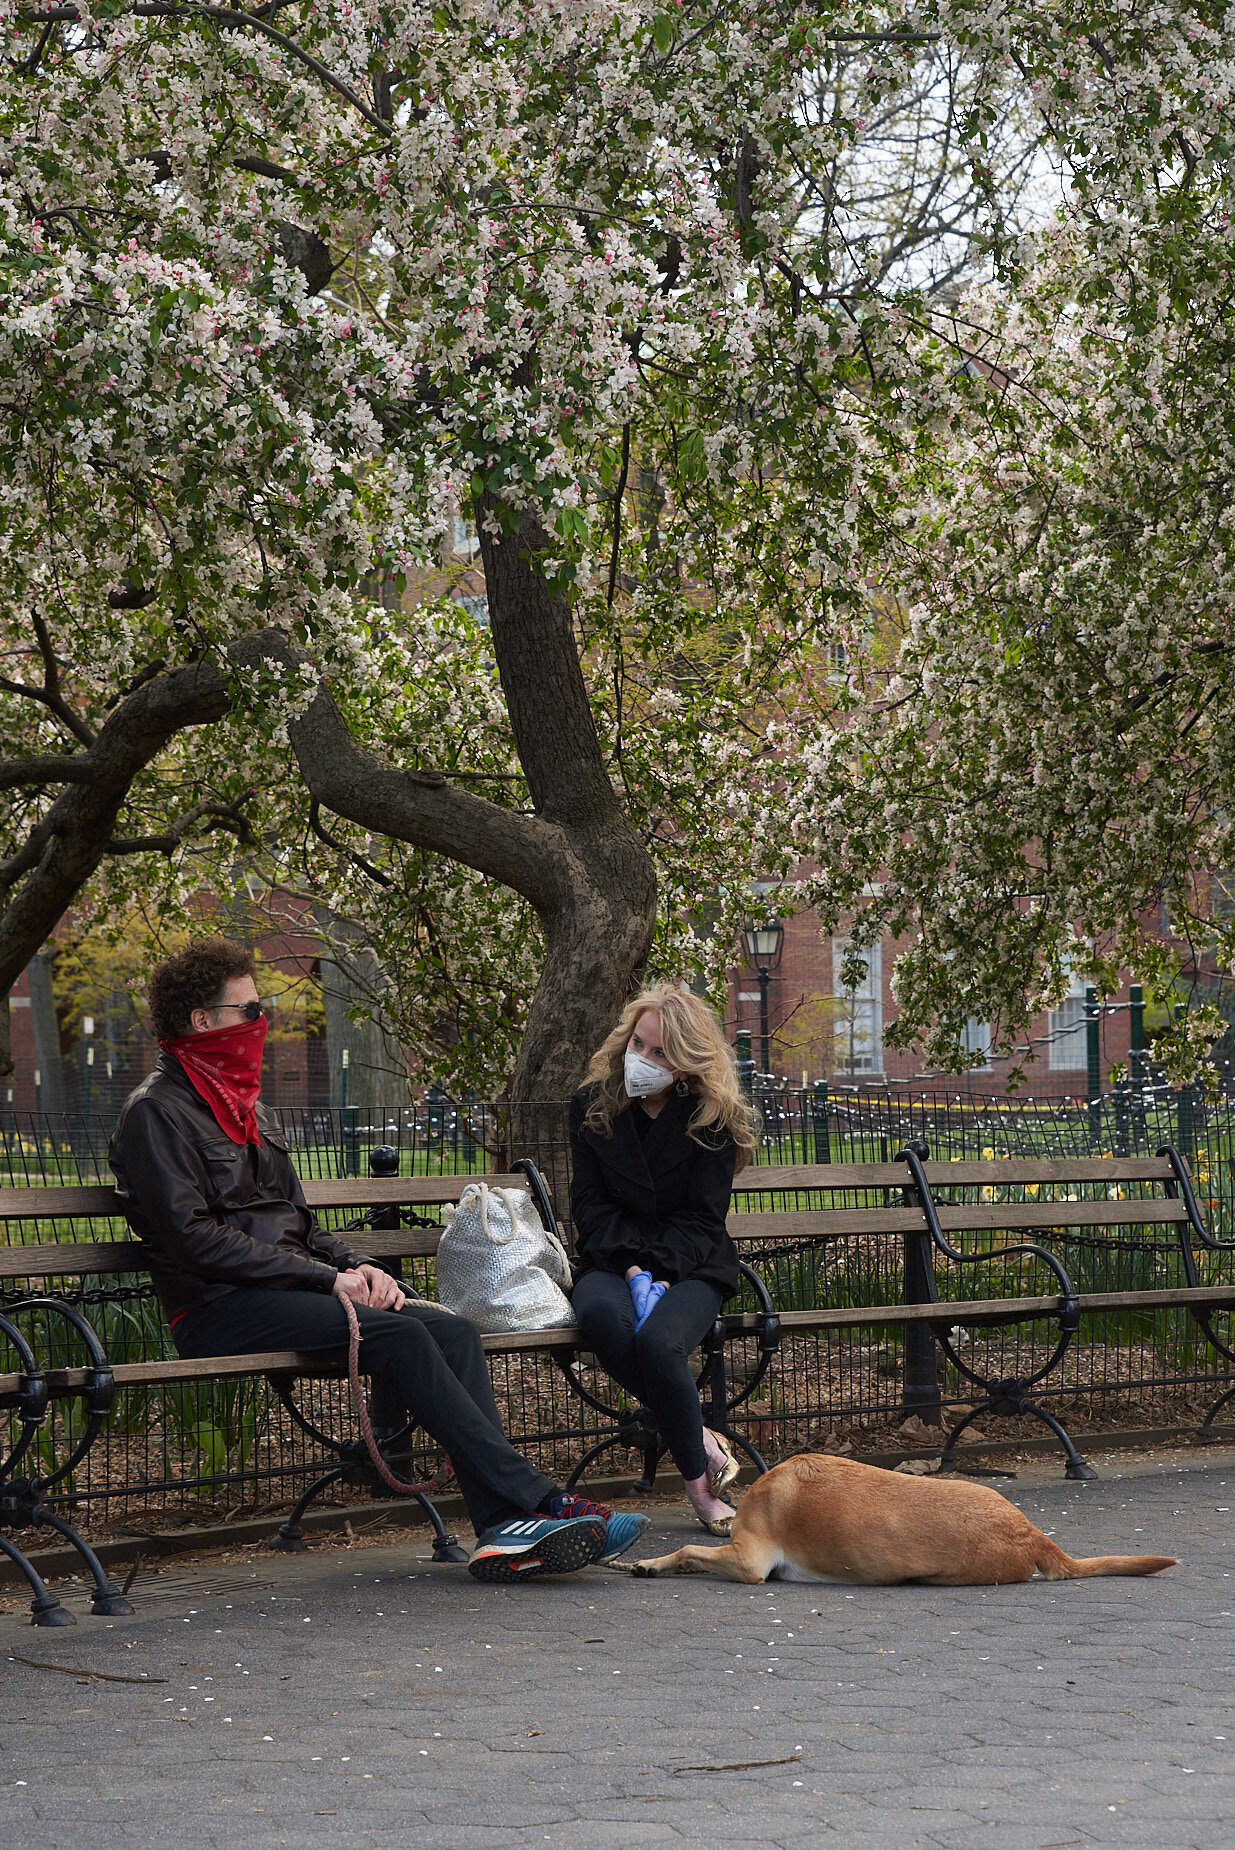
<svg viewBox="0 0 1235 1850">
<path fill-rule="evenodd" d="M 316 1223 L 287 1143 L 257 1103 L 266 1018 L 253 958 L 205 938 L 150 977 L 159 1064 L 129 1093 L 109 1160 L 181 1356 L 272 1349 L 342 1360 L 390 1386 L 449 1454 L 477 1530 L 477 1580 L 527 1580 L 614 1560 L 647 1528 L 560 1489 L 501 1430 L 479 1332 Z"/>
</svg>

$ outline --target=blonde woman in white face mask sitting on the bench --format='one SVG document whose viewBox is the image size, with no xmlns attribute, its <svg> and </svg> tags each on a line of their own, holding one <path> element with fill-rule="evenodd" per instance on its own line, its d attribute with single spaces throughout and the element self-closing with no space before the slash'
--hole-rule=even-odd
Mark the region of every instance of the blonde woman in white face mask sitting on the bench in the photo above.
<svg viewBox="0 0 1235 1850">
<path fill-rule="evenodd" d="M 690 1356 L 738 1289 L 725 1223 L 754 1125 L 708 1005 L 667 982 L 636 995 L 569 1123 L 582 1341 L 656 1419 L 703 1526 L 727 1536 L 738 1460 L 703 1424 Z"/>
</svg>

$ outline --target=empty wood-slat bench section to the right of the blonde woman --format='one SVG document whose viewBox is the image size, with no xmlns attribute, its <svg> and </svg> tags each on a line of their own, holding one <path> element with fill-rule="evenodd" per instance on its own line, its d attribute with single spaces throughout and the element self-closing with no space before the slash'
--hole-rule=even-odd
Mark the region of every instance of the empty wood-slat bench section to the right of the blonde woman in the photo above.
<svg viewBox="0 0 1235 1850">
<path fill-rule="evenodd" d="M 1094 1476 L 1065 1428 L 1033 1395 L 1063 1362 L 1082 1317 L 1185 1310 L 1213 1349 L 1226 1362 L 1235 1362 L 1235 1347 L 1213 1326 L 1217 1314 L 1235 1308 L 1235 1286 L 1205 1284 L 1202 1276 L 1205 1256 L 1235 1251 L 1235 1241 L 1215 1240 L 1207 1232 L 1187 1164 L 1172 1149 L 1156 1156 L 932 1162 L 924 1143 L 911 1143 L 895 1162 L 752 1167 L 738 1177 L 734 1195 L 745 1212 L 730 1214 L 730 1234 L 747 1256 L 754 1256 L 752 1247 L 758 1245 L 765 1282 L 769 1265 L 775 1269 L 788 1254 L 826 1258 L 828 1251 L 902 1243 L 900 1302 L 828 1304 L 825 1267 L 819 1276 L 821 1302 L 802 1310 L 778 1308 L 778 1321 L 789 1338 L 900 1326 L 904 1410 L 928 1415 L 928 1424 L 939 1423 L 937 1345 L 980 1397 L 952 1426 L 941 1449 L 943 1469 L 956 1463 L 961 1432 L 982 1415 L 995 1413 L 1041 1421 L 1063 1445 L 1065 1474 L 1076 1480 Z M 762 1206 L 767 1195 L 806 1197 L 810 1206 Z M 1130 1289 L 1078 1291 L 1059 1254 L 1045 1243 L 1109 1238 L 1128 1247 L 1157 1228 L 1167 1230 L 1172 1247 L 1178 1245 L 1181 1286 L 1139 1282 Z M 1157 1262 L 1152 1249 L 1137 1245 L 1135 1251 Z M 976 1289 L 978 1275 L 989 1265 L 1000 1265 L 1004 1280 L 1011 1276 L 1019 1288 L 1015 1295 Z M 867 1267 L 867 1275 L 874 1269 Z M 1037 1288 L 1024 1291 L 1030 1276 L 1037 1278 Z M 771 1295 L 773 1301 L 778 1295 L 775 1280 Z M 961 1332 L 1024 1323 L 1056 1326 L 1050 1352 L 1028 1373 L 993 1376 L 963 1352 Z M 1231 1395 L 1235 1388 L 1215 1400 L 1202 1430 Z"/>
</svg>

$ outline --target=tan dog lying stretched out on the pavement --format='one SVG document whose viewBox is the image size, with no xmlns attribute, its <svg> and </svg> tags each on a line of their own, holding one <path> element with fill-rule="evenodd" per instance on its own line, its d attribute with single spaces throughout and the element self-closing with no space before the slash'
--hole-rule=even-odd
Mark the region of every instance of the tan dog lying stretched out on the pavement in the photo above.
<svg viewBox="0 0 1235 1850">
<path fill-rule="evenodd" d="M 845 1580 L 889 1587 L 998 1587 L 1087 1574 L 1159 1574 L 1170 1554 L 1096 1554 L 1074 1561 L 998 1491 L 963 1478 L 911 1478 L 852 1458 L 804 1452 L 756 1478 L 723 1548 L 688 1545 L 634 1574 L 725 1580 Z"/>
</svg>

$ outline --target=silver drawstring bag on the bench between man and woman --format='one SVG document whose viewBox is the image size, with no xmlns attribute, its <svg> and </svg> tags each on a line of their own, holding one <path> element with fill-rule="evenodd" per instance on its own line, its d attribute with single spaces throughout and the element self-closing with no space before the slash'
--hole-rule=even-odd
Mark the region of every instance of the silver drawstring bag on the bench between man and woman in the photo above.
<svg viewBox="0 0 1235 1850">
<path fill-rule="evenodd" d="M 486 1336 L 575 1325 L 569 1258 L 521 1188 L 471 1182 L 442 1215 L 438 1299 Z"/>
</svg>

